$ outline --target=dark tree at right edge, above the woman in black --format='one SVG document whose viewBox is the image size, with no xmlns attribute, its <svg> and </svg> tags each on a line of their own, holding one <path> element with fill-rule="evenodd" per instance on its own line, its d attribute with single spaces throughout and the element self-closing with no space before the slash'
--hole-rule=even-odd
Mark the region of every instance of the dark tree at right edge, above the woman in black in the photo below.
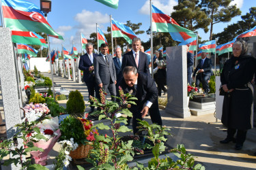
<svg viewBox="0 0 256 170">
<path fill-rule="evenodd" d="M 232 41 L 236 36 L 256 26 L 256 7 L 251 7 L 249 11 L 241 16 L 242 20 L 228 25 L 223 32 L 212 35 L 213 38 L 218 38 L 218 44 Z"/>
</svg>

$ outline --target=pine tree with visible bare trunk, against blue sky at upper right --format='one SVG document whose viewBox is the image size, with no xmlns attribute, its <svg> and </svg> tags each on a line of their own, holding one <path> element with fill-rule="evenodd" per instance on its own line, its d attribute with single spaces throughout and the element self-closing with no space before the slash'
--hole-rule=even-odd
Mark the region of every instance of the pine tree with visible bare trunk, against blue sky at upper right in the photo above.
<svg viewBox="0 0 256 170">
<path fill-rule="evenodd" d="M 202 10 L 211 19 L 210 41 L 212 40 L 213 25 L 219 22 L 229 22 L 231 18 L 241 14 L 236 5 L 229 5 L 231 0 L 201 0 Z"/>
</svg>

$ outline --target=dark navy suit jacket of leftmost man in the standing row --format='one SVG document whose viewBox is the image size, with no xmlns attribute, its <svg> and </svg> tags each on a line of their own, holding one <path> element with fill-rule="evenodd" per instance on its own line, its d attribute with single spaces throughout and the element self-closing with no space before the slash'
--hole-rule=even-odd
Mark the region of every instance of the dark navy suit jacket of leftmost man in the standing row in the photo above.
<svg viewBox="0 0 256 170">
<path fill-rule="evenodd" d="M 97 54 L 93 53 L 93 56 L 96 57 Z M 91 65 L 93 65 L 93 63 L 91 63 L 87 53 L 80 57 L 79 69 L 83 71 L 84 82 L 94 81 L 94 71 L 91 71 L 91 73 L 89 71 L 89 67 L 91 67 Z"/>
</svg>

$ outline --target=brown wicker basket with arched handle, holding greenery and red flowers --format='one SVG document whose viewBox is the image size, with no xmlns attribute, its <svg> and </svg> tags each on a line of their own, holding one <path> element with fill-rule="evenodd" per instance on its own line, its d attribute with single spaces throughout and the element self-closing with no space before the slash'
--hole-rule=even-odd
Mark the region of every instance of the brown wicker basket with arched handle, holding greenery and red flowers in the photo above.
<svg viewBox="0 0 256 170">
<path fill-rule="evenodd" d="M 83 122 L 77 118 L 81 124 Z M 85 131 L 85 126 L 83 126 L 83 130 Z M 86 158 L 89 154 L 89 150 L 91 150 L 93 147 L 90 145 L 82 145 L 80 144 L 79 147 L 76 148 L 76 150 L 70 151 L 70 157 L 71 158 Z"/>
</svg>

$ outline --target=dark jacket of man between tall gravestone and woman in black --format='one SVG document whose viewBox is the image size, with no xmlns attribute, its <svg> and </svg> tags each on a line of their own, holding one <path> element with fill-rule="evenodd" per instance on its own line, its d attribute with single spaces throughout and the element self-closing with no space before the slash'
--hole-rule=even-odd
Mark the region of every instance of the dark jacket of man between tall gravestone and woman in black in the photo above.
<svg viewBox="0 0 256 170">
<path fill-rule="evenodd" d="M 212 75 L 212 61 L 210 58 L 205 58 L 205 61 L 203 62 L 203 65 L 201 65 L 201 60 L 199 60 L 199 63 L 197 65 L 197 68 L 195 69 L 193 76 L 195 77 L 195 74 L 199 69 L 203 69 L 202 73 L 198 73 L 197 75 L 203 75 L 203 76 L 211 76 Z"/>
</svg>

